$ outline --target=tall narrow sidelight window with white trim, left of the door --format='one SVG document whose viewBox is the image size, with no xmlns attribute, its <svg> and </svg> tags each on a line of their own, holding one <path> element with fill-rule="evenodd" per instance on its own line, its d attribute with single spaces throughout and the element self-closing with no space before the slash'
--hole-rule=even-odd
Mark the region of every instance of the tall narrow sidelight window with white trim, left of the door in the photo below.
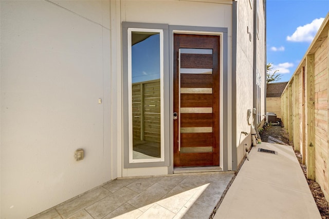
<svg viewBox="0 0 329 219">
<path fill-rule="evenodd" d="M 163 31 L 128 28 L 129 162 L 164 161 Z"/>
</svg>

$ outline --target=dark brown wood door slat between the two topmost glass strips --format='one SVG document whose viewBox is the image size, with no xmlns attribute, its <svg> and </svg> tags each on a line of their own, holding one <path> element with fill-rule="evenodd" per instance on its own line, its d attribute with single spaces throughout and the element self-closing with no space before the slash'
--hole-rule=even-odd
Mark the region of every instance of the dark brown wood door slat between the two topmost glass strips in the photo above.
<svg viewBox="0 0 329 219">
<path fill-rule="evenodd" d="M 180 54 L 180 68 L 213 68 L 212 54 Z"/>
</svg>

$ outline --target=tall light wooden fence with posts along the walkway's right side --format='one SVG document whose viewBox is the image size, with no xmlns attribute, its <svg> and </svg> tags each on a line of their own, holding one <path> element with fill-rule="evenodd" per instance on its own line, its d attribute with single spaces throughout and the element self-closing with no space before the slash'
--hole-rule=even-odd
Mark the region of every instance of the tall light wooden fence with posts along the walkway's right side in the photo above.
<svg viewBox="0 0 329 219">
<path fill-rule="evenodd" d="M 329 15 L 329 14 L 328 14 Z M 307 166 L 329 200 L 328 15 L 282 93 L 282 120 Z"/>
</svg>

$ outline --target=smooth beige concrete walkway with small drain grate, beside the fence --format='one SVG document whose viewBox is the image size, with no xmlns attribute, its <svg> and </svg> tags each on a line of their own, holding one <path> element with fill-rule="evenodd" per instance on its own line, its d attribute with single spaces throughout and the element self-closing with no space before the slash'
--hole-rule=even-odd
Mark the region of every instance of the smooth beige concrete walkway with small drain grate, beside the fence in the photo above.
<svg viewBox="0 0 329 219">
<path fill-rule="evenodd" d="M 278 154 L 258 152 L 259 148 Z M 293 148 L 252 148 L 214 218 L 321 218 Z"/>
</svg>

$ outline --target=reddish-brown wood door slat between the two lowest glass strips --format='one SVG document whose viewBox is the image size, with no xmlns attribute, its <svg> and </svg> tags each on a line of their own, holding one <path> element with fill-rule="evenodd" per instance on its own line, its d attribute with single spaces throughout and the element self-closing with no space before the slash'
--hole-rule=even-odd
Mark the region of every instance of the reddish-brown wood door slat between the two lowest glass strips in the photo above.
<svg viewBox="0 0 329 219">
<path fill-rule="evenodd" d="M 212 145 L 212 133 L 181 133 L 180 147 L 208 147 Z"/>
</svg>

